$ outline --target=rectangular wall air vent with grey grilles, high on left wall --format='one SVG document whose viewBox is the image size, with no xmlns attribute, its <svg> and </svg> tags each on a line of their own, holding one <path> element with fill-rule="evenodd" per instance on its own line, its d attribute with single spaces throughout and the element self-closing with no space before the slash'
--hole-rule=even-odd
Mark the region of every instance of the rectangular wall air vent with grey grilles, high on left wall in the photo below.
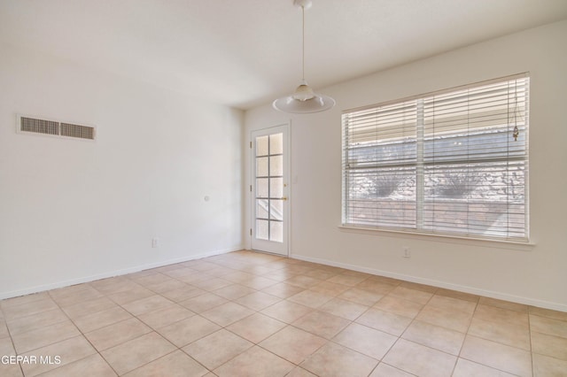
<svg viewBox="0 0 567 377">
<path fill-rule="evenodd" d="M 18 116 L 18 132 L 95 140 L 95 127 Z"/>
</svg>

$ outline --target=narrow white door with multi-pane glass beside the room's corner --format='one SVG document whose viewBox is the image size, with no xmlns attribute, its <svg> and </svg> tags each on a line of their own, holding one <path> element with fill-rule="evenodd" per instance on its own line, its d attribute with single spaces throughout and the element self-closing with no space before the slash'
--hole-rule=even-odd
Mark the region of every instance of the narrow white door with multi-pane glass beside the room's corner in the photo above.
<svg viewBox="0 0 567 377">
<path fill-rule="evenodd" d="M 252 250 L 288 255 L 289 125 L 252 132 Z"/>
</svg>

